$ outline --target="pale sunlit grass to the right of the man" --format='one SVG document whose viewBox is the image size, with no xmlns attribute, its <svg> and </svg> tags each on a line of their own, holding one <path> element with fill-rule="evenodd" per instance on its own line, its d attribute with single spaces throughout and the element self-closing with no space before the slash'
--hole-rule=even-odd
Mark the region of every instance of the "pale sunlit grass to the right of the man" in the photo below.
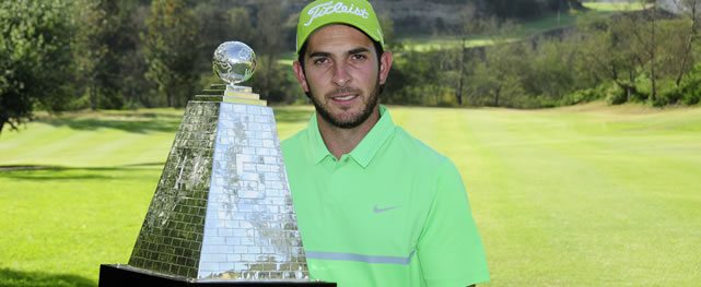
<svg viewBox="0 0 701 287">
<path fill-rule="evenodd" d="M 701 280 L 701 110 L 417 110 L 463 171 L 494 285 Z"/>
</svg>

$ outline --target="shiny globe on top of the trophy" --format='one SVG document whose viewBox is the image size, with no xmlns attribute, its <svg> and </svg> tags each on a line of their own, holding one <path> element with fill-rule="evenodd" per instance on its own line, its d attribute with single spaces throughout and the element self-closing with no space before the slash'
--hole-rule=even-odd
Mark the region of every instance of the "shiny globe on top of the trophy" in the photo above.
<svg viewBox="0 0 701 287">
<path fill-rule="evenodd" d="M 222 81 L 236 85 L 250 79 L 256 70 L 256 53 L 241 41 L 225 41 L 214 50 L 212 68 Z"/>
</svg>

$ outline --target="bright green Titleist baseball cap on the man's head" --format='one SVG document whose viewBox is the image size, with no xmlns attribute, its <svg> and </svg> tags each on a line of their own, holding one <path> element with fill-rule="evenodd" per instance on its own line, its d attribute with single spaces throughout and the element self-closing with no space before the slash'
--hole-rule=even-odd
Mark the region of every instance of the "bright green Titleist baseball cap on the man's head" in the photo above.
<svg viewBox="0 0 701 287">
<path fill-rule="evenodd" d="M 300 13 L 297 23 L 297 53 L 304 41 L 317 28 L 328 24 L 347 24 L 367 34 L 385 47 L 379 21 L 372 4 L 366 0 L 317 0 L 306 5 Z"/>
</svg>

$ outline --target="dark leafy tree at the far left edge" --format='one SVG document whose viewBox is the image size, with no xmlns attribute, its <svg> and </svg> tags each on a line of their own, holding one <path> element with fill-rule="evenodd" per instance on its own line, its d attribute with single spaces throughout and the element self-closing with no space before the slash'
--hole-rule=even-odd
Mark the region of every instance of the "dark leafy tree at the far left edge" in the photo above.
<svg viewBox="0 0 701 287">
<path fill-rule="evenodd" d="M 63 1 L 0 2 L 0 132 L 61 110 L 71 96 L 71 32 Z"/>
</svg>

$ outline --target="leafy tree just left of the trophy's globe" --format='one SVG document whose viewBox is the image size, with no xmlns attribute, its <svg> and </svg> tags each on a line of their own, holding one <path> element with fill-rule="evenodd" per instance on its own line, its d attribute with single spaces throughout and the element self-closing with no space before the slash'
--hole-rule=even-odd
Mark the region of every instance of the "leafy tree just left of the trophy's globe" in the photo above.
<svg viewBox="0 0 701 287">
<path fill-rule="evenodd" d="M 198 22 L 183 0 L 154 0 L 147 19 L 144 57 L 147 79 L 165 96 L 168 107 L 182 106 L 191 96 L 197 72 Z"/>
</svg>

